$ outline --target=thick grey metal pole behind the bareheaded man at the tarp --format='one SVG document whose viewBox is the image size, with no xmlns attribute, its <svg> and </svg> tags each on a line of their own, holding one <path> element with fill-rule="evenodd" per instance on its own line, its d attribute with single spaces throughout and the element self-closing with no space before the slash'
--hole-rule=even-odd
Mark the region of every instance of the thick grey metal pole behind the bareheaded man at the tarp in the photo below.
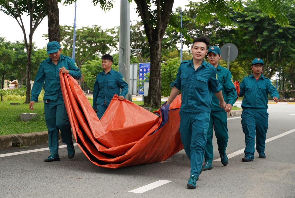
<svg viewBox="0 0 295 198">
<path fill-rule="evenodd" d="M 126 99 L 132 101 L 132 86 L 130 85 L 130 3 L 121 0 L 120 33 L 119 33 L 119 72 L 129 85 Z"/>
</svg>

